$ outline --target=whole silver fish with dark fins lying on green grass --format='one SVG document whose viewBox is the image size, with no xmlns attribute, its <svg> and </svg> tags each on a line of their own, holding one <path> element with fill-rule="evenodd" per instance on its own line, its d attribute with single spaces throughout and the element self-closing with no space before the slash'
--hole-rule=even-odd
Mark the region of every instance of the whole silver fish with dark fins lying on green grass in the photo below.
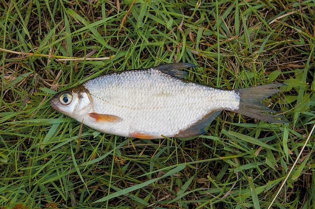
<svg viewBox="0 0 315 209">
<path fill-rule="evenodd" d="M 173 63 L 105 74 L 57 93 L 51 106 L 100 132 L 140 139 L 205 134 L 222 110 L 286 123 L 260 102 L 283 84 L 218 89 L 185 80 L 182 70 L 191 67 L 197 66 Z"/>
</svg>

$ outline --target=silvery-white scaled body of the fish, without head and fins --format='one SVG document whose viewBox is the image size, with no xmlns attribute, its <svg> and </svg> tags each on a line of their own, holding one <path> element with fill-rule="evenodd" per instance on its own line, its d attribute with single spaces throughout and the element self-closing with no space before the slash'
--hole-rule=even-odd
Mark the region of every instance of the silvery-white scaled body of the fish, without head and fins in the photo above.
<svg viewBox="0 0 315 209">
<path fill-rule="evenodd" d="M 101 76 L 84 86 L 93 99 L 95 113 L 122 119 L 87 125 L 126 137 L 134 133 L 173 137 L 209 113 L 235 110 L 240 103 L 234 91 L 187 82 L 154 68 Z"/>
</svg>

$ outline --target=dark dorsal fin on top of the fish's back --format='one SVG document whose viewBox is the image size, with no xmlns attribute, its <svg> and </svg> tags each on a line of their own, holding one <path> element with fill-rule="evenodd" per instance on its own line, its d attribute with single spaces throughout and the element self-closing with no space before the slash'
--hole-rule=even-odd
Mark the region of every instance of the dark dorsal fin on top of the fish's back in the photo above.
<svg viewBox="0 0 315 209">
<path fill-rule="evenodd" d="M 164 73 L 168 73 L 171 76 L 176 78 L 185 78 L 187 72 L 181 71 L 180 69 L 186 69 L 191 67 L 197 67 L 197 65 L 190 64 L 190 63 L 172 63 L 166 65 L 160 65 L 155 67 L 155 69 L 160 70 Z"/>
</svg>

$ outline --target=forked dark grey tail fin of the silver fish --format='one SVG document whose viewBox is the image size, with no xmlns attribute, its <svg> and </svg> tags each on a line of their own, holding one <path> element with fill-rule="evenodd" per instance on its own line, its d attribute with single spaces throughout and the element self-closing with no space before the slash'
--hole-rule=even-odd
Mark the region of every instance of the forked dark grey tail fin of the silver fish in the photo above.
<svg viewBox="0 0 315 209">
<path fill-rule="evenodd" d="M 240 105 L 238 110 L 233 111 L 271 123 L 287 123 L 287 121 L 275 119 L 279 117 L 277 115 L 268 114 L 277 111 L 262 105 L 260 102 L 261 100 L 279 92 L 280 89 L 274 88 L 281 86 L 284 85 L 269 84 L 246 89 L 236 89 L 235 92 L 240 94 Z"/>
</svg>

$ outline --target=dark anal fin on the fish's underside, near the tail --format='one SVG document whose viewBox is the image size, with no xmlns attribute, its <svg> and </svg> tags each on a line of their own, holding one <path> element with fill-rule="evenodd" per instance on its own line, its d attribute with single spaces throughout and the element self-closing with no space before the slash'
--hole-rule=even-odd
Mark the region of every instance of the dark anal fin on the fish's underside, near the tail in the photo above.
<svg viewBox="0 0 315 209">
<path fill-rule="evenodd" d="M 190 137 L 190 136 L 199 136 L 204 133 L 207 133 L 206 128 L 211 123 L 218 114 L 220 114 L 221 110 L 216 112 L 210 112 L 201 120 L 194 123 L 192 126 L 185 130 L 181 130 L 176 137 Z"/>
</svg>

